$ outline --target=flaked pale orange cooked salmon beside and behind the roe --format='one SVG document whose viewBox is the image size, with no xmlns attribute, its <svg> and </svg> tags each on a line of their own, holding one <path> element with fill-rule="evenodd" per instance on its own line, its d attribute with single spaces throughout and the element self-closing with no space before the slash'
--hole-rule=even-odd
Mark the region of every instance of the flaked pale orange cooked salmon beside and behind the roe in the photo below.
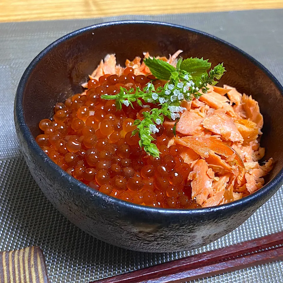
<svg viewBox="0 0 283 283">
<path fill-rule="evenodd" d="M 178 50 L 167 57 L 156 57 L 176 66 Z M 144 58 L 151 57 L 149 52 Z M 151 57 L 152 58 L 152 57 Z M 141 57 L 126 60 L 125 67 L 132 67 L 135 75 L 151 75 Z M 116 64 L 114 54 L 106 55 L 89 75 L 98 79 L 105 74 L 122 75 L 124 67 Z M 87 88 L 87 83 L 82 84 Z M 202 207 L 225 204 L 249 195 L 264 185 L 264 176 L 272 170 L 270 158 L 260 165 L 265 149 L 260 147 L 263 116 L 259 104 L 252 96 L 241 94 L 233 86 L 207 85 L 208 92 L 199 99 L 182 101 L 186 109 L 176 124 L 176 136 L 167 147 L 177 145 L 183 162 L 191 172 L 192 199 Z M 174 127 L 176 121 L 166 118 L 165 129 Z"/>
</svg>

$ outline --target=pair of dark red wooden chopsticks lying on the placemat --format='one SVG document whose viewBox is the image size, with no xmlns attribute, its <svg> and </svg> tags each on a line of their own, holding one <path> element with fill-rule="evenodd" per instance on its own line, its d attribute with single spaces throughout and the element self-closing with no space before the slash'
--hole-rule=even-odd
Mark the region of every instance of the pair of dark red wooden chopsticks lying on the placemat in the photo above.
<svg viewBox="0 0 283 283">
<path fill-rule="evenodd" d="M 283 231 L 95 283 L 185 282 L 283 259 Z M 93 282 L 94 283 L 94 282 Z"/>
</svg>

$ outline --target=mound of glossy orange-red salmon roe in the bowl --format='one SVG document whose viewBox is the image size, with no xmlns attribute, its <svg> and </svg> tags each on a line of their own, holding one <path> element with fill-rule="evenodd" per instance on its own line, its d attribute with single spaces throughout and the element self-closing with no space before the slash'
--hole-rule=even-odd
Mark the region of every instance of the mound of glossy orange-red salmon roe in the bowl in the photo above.
<svg viewBox="0 0 283 283">
<path fill-rule="evenodd" d="M 152 135 L 162 153 L 160 159 L 147 156 L 139 147 L 135 119 L 143 119 L 153 104 L 136 103 L 134 109 L 122 106 L 116 111 L 115 101 L 101 99 L 125 88 L 144 87 L 153 76 L 135 76 L 129 67 L 120 77 L 104 75 L 89 80 L 88 90 L 75 94 L 65 103 L 57 103 L 52 119 L 39 123 L 41 134 L 36 141 L 42 150 L 63 170 L 94 190 L 121 200 L 160 208 L 198 208 L 191 199 L 187 182 L 190 166 L 180 156 L 181 146 L 167 148 L 171 127 L 157 125 Z M 154 81 L 155 87 L 163 85 Z"/>
</svg>

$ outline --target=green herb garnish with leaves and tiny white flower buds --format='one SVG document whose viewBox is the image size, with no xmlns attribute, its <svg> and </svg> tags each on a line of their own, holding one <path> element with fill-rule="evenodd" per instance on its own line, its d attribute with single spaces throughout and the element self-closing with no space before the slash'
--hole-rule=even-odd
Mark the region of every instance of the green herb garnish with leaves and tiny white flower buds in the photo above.
<svg viewBox="0 0 283 283">
<path fill-rule="evenodd" d="M 207 85 L 215 85 L 216 80 L 219 80 L 225 68 L 223 63 L 210 69 L 211 63 L 203 58 L 187 58 L 183 60 L 180 58 L 177 62 L 176 68 L 167 62 L 159 59 L 144 59 L 145 65 L 150 69 L 152 75 L 157 79 L 167 80 L 164 87 L 159 87 L 155 90 L 152 82 L 149 82 L 142 90 L 138 87 L 126 90 L 120 87 L 120 92 L 116 95 L 102 95 L 102 99 L 115 99 L 117 109 L 122 108 L 122 104 L 133 107 L 132 102 L 136 101 L 139 106 L 143 105 L 141 99 L 145 102 L 158 104 L 161 108 L 153 108 L 149 113 L 143 112 L 144 119 L 135 120 L 134 124 L 137 126 L 136 130 L 132 131 L 132 136 L 139 134 L 139 145 L 144 147 L 147 154 L 159 158 L 159 150 L 157 146 L 151 143 L 154 138 L 151 134 L 155 134 L 159 130 L 155 124 L 160 125 L 164 121 L 164 116 L 169 119 L 176 120 L 180 118 L 180 112 L 186 110 L 181 107 L 180 103 L 185 99 L 192 100 L 193 96 L 199 98 L 202 93 L 207 93 Z M 200 90 L 202 93 L 200 93 Z M 134 107 L 133 107 L 134 108 Z M 177 123 L 177 121 L 176 121 Z M 176 133 L 175 123 L 175 133 Z M 174 133 L 174 134 L 175 134 Z"/>
</svg>

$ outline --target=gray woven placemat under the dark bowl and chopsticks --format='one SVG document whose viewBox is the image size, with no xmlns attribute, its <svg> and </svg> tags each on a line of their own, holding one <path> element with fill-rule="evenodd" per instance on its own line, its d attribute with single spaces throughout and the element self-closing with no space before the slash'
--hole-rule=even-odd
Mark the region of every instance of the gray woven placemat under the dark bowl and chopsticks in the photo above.
<svg viewBox="0 0 283 283">
<path fill-rule="evenodd" d="M 120 249 L 87 235 L 47 201 L 19 152 L 13 121 L 14 96 L 29 62 L 47 45 L 73 30 L 122 19 L 181 24 L 220 37 L 264 64 L 283 83 L 283 10 L 0 24 L 0 250 L 41 246 L 50 282 L 89 282 L 231 245 L 283 230 L 282 188 L 248 221 L 203 248 L 149 254 Z M 198 280 L 282 282 L 283 262 Z"/>
</svg>

